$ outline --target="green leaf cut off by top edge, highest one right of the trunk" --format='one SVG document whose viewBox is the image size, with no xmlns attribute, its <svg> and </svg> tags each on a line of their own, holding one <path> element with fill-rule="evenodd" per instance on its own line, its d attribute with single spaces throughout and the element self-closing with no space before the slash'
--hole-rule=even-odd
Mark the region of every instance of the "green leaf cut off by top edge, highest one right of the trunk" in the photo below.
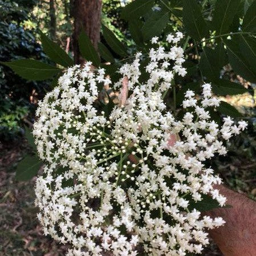
<svg viewBox="0 0 256 256">
<path fill-rule="evenodd" d="M 135 0 L 129 3 L 121 11 L 121 18 L 133 19 L 143 16 L 147 13 L 154 5 L 154 0 Z"/>
</svg>

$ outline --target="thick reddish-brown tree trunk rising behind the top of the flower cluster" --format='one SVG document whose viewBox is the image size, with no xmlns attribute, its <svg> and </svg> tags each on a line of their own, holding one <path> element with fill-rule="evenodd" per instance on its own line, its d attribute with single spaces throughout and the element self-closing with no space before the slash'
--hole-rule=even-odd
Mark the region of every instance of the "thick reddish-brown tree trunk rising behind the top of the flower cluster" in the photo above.
<svg viewBox="0 0 256 256">
<path fill-rule="evenodd" d="M 100 40 L 100 14 L 102 0 L 73 0 L 72 14 L 74 16 L 73 47 L 76 64 L 82 64 L 84 60 L 80 56 L 78 36 L 84 29 L 90 37 L 92 44 L 97 49 Z"/>
</svg>

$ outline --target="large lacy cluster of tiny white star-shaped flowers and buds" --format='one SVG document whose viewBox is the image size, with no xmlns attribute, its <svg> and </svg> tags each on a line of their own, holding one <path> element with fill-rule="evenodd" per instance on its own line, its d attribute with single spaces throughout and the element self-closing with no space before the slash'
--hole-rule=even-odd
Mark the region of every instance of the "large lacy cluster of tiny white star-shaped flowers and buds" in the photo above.
<svg viewBox="0 0 256 256">
<path fill-rule="evenodd" d="M 143 84 L 140 54 L 120 68 L 128 87 L 121 89 L 123 79 L 114 87 L 129 94 L 109 115 L 97 98 L 111 81 L 104 70 L 90 71 L 91 63 L 68 68 L 40 102 L 33 133 L 47 165 L 36 181 L 38 217 L 45 234 L 71 245 L 67 255 L 201 253 L 205 230 L 224 224 L 202 217 L 194 205 L 206 195 L 225 204 L 213 188 L 221 180 L 205 160 L 224 155 L 221 140 L 246 123 L 226 117 L 220 126 L 210 119 L 208 109 L 219 104 L 210 84 L 202 86 L 201 99 L 186 92 L 182 119 L 168 111 L 163 94 L 174 74 L 186 74 L 176 45 L 181 38 L 168 35 L 169 51 L 150 50 Z"/>
</svg>

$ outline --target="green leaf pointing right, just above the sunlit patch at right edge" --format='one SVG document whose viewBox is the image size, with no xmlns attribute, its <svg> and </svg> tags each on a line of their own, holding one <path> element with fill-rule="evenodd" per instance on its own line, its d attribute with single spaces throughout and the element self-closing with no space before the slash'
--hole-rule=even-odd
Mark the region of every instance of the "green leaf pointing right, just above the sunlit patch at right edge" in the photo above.
<svg viewBox="0 0 256 256">
<path fill-rule="evenodd" d="M 214 94 L 220 96 L 244 94 L 248 91 L 241 84 L 230 82 L 229 80 L 224 79 L 214 80 L 212 87 Z"/>
</svg>

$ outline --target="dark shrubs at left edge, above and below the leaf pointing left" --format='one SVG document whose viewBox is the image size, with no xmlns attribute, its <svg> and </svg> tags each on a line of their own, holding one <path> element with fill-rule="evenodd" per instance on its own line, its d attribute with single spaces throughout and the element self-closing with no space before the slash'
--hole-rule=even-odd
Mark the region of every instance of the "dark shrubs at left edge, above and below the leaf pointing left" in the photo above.
<svg viewBox="0 0 256 256">
<path fill-rule="evenodd" d="M 0 0 L 1 62 L 21 58 L 46 60 L 40 44 L 35 40 L 35 31 L 25 30 L 20 25 L 36 2 Z M 32 92 L 35 90 L 37 97 L 42 97 L 47 84 L 21 79 L 9 67 L 0 64 L 0 140 L 14 139 L 21 134 L 22 119 L 31 119 L 30 112 L 35 109 L 30 101 Z"/>
</svg>

